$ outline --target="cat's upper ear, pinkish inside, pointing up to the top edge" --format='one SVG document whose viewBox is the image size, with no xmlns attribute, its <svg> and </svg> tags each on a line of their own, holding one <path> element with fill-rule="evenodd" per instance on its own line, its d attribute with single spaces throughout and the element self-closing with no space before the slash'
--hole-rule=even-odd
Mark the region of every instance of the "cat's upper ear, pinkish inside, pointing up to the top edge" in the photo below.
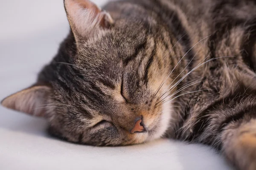
<svg viewBox="0 0 256 170">
<path fill-rule="evenodd" d="M 64 0 L 67 18 L 76 40 L 90 37 L 95 31 L 108 29 L 114 23 L 110 14 L 90 0 Z"/>
</svg>

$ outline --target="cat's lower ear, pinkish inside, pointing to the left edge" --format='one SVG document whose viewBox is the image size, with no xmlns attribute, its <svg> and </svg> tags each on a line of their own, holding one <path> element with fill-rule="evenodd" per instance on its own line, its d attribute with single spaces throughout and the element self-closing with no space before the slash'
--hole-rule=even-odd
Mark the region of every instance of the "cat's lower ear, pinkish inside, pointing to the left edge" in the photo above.
<svg viewBox="0 0 256 170">
<path fill-rule="evenodd" d="M 32 86 L 6 97 L 1 104 L 6 108 L 44 117 L 50 92 L 51 88 L 48 86 Z"/>
</svg>

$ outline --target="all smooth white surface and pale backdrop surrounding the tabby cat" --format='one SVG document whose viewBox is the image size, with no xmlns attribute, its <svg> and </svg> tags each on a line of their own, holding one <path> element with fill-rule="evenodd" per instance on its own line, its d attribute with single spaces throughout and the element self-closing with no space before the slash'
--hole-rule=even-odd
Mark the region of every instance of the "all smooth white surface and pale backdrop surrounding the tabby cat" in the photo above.
<svg viewBox="0 0 256 170">
<path fill-rule="evenodd" d="M 97 1 L 103 3 L 102 0 Z M 0 99 L 35 81 L 69 26 L 62 0 L 1 0 Z M 1 170 L 230 170 L 209 147 L 168 139 L 91 147 L 47 136 L 47 122 L 0 107 Z"/>
</svg>

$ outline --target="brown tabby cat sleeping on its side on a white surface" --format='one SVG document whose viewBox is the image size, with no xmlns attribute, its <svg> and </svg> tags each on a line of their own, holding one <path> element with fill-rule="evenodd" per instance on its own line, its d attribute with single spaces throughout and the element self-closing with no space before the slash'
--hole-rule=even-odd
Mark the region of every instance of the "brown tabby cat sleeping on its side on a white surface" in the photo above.
<svg viewBox="0 0 256 170">
<path fill-rule="evenodd" d="M 64 0 L 70 33 L 34 85 L 2 105 L 70 142 L 161 137 L 256 170 L 256 1 Z"/>
</svg>

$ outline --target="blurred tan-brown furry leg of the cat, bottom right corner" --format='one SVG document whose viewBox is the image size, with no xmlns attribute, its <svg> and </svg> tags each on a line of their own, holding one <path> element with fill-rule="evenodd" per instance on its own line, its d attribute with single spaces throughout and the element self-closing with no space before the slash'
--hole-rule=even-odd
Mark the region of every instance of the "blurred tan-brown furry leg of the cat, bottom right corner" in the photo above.
<svg viewBox="0 0 256 170">
<path fill-rule="evenodd" d="M 236 122 L 221 134 L 224 155 L 240 170 L 256 170 L 256 119 Z"/>
</svg>

